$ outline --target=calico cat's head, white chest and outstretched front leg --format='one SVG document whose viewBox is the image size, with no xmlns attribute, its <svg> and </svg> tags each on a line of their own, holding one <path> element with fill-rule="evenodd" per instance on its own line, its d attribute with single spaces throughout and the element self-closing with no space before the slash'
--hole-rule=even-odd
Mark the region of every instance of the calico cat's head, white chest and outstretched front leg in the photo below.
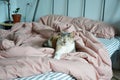
<svg viewBox="0 0 120 80">
<path fill-rule="evenodd" d="M 57 39 L 55 59 L 60 59 L 63 54 L 75 52 L 73 33 L 61 33 Z"/>
</svg>

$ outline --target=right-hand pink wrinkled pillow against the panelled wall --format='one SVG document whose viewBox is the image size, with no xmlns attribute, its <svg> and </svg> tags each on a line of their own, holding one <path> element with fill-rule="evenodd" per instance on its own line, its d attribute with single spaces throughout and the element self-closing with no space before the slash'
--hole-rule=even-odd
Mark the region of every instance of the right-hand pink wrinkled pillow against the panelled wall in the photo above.
<svg viewBox="0 0 120 80">
<path fill-rule="evenodd" d="M 112 38 L 115 36 L 114 27 L 104 22 L 79 17 L 79 18 L 74 18 L 71 23 L 74 26 L 77 26 L 83 30 L 87 30 L 93 33 L 97 37 Z"/>
</svg>

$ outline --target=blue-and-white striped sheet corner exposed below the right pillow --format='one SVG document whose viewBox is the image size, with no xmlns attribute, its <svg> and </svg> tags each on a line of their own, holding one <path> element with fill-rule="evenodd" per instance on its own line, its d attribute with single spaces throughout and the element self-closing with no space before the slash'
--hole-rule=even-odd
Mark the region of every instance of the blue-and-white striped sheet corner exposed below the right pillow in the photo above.
<svg viewBox="0 0 120 80">
<path fill-rule="evenodd" d="M 120 47 L 120 37 L 114 37 L 111 39 L 98 38 L 98 40 L 105 45 L 106 49 L 109 52 L 110 57 Z"/>
</svg>

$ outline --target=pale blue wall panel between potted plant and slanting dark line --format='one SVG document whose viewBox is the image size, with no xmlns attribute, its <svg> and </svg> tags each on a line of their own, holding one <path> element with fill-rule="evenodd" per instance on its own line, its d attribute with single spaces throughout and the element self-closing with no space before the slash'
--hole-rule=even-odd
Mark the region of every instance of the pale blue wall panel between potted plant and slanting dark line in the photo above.
<svg viewBox="0 0 120 80">
<path fill-rule="evenodd" d="M 17 1 L 17 7 L 20 7 L 20 13 L 22 14 L 21 21 L 27 21 L 27 22 L 32 21 L 35 4 L 36 4 L 36 0 L 18 0 Z"/>
</svg>

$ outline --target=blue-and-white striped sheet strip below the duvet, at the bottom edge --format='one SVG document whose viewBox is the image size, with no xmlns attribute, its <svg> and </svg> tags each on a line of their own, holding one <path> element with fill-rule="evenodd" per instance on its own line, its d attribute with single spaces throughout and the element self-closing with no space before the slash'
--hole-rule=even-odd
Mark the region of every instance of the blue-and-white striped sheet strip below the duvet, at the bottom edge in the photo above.
<svg viewBox="0 0 120 80">
<path fill-rule="evenodd" d="M 59 72 L 47 72 L 40 75 L 23 77 L 14 80 L 75 80 L 75 79 L 68 74 L 59 73 Z"/>
</svg>

